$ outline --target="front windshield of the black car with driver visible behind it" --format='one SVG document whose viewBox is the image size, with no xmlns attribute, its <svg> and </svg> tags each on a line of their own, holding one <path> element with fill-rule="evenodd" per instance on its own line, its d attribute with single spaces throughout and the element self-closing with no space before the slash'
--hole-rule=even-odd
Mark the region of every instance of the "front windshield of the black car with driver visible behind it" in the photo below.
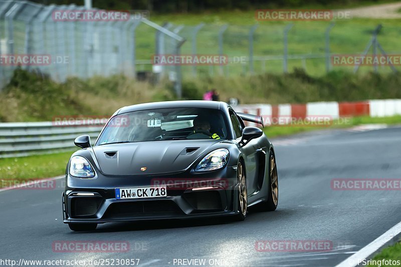
<svg viewBox="0 0 401 267">
<path fill-rule="evenodd" d="M 142 110 L 113 117 L 97 145 L 179 139 L 227 139 L 227 122 L 220 110 L 168 108 Z"/>
</svg>

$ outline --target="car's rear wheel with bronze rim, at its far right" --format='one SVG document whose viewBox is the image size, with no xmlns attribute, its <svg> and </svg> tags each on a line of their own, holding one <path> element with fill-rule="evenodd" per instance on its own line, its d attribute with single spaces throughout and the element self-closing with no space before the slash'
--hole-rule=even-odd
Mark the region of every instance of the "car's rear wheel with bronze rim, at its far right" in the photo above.
<svg viewBox="0 0 401 267">
<path fill-rule="evenodd" d="M 269 153 L 269 185 L 267 193 L 267 201 L 259 204 L 260 211 L 274 211 L 279 201 L 279 181 L 277 175 L 276 157 L 273 151 Z"/>
</svg>

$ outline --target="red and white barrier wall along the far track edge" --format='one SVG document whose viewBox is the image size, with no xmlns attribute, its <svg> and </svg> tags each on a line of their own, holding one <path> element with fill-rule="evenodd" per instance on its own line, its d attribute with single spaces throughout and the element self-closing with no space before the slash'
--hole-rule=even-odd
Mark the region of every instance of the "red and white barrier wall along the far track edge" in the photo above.
<svg viewBox="0 0 401 267">
<path fill-rule="evenodd" d="M 291 119 L 401 115 L 401 99 L 367 100 L 358 102 L 311 102 L 306 104 L 252 104 L 233 107 L 237 112 L 263 116 L 265 125 L 287 124 Z M 247 123 L 247 126 L 257 126 Z"/>
</svg>

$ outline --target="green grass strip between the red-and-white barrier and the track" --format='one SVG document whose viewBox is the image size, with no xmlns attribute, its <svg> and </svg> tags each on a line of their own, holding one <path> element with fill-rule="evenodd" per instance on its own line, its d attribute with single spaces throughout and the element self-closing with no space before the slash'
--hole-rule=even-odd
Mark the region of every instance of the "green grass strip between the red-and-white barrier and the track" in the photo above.
<svg viewBox="0 0 401 267">
<path fill-rule="evenodd" d="M 265 127 L 263 131 L 269 138 L 288 136 L 292 134 L 324 130 L 324 129 L 336 129 L 336 128 L 347 128 L 351 126 L 361 124 L 388 124 L 395 125 L 401 124 L 401 116 L 391 116 L 384 118 L 370 118 L 370 117 L 355 117 L 348 118 L 346 121 L 334 121 L 331 125 L 320 125 L 320 126 L 299 126 L 299 125 L 283 125 L 283 126 L 269 126 Z"/>
</svg>

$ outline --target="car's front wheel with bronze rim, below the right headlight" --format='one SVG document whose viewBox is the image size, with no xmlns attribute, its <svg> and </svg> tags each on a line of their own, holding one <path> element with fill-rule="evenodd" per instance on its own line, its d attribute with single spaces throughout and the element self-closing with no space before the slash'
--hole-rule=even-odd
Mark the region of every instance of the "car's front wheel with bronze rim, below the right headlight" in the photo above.
<svg viewBox="0 0 401 267">
<path fill-rule="evenodd" d="M 245 220 L 248 213 L 247 180 L 244 164 L 240 161 L 237 166 L 237 178 L 239 182 L 237 194 L 238 214 L 233 216 L 233 221 Z"/>
</svg>

